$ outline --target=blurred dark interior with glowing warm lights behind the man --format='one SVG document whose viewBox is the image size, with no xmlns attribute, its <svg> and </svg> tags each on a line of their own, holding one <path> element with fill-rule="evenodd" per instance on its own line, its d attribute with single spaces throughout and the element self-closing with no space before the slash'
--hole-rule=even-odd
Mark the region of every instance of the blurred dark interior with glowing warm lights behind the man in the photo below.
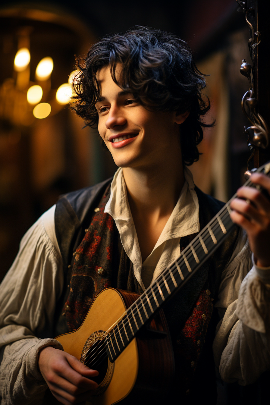
<svg viewBox="0 0 270 405">
<path fill-rule="evenodd" d="M 68 108 L 74 54 L 101 36 L 134 25 L 186 40 L 212 102 L 200 160 L 191 166 L 204 192 L 227 200 L 244 183 L 250 151 L 240 102 L 248 81 L 249 30 L 235 0 L 102 2 L 51 0 L 0 6 L 0 280 L 24 232 L 60 194 L 116 170 L 98 133 Z M 72 77 L 72 75 L 71 75 Z"/>
</svg>

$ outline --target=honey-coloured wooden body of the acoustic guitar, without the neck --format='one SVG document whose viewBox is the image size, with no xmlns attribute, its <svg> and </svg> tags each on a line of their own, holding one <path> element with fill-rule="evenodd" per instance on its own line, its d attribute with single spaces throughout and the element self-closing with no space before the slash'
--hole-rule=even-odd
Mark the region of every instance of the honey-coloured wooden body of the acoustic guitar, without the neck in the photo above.
<svg viewBox="0 0 270 405">
<path fill-rule="evenodd" d="M 95 358 L 104 332 L 137 298 L 138 294 L 106 288 L 96 296 L 80 328 L 56 339 L 65 352 L 87 364 L 87 358 Z M 133 338 L 113 363 L 104 357 L 101 365 L 97 362 L 97 367 L 92 367 L 100 375 L 96 394 L 89 398 L 91 404 L 162 401 L 174 375 L 174 355 L 163 311 L 152 320 L 151 329 Z"/>
</svg>

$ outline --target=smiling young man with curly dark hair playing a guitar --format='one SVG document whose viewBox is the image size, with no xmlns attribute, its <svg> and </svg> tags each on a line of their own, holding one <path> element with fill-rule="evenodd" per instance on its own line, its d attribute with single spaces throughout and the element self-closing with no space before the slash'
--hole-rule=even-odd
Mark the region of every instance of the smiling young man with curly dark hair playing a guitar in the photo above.
<svg viewBox="0 0 270 405">
<path fill-rule="evenodd" d="M 141 294 L 222 207 L 185 166 L 199 157 L 204 85 L 188 45 L 165 32 L 134 28 L 89 49 L 73 108 L 98 124 L 119 169 L 61 198 L 21 241 L 1 287 L 3 405 L 41 403 L 48 387 L 63 404 L 89 399 L 96 371 L 53 337 L 76 330 L 106 287 Z M 268 177 L 251 181 L 270 192 Z M 215 403 L 216 326 L 223 380 L 246 385 L 269 369 L 270 203 L 254 188 L 238 197 L 231 218 L 243 230 L 164 307 L 176 368 L 168 402 L 200 398 L 207 383 Z"/>
</svg>

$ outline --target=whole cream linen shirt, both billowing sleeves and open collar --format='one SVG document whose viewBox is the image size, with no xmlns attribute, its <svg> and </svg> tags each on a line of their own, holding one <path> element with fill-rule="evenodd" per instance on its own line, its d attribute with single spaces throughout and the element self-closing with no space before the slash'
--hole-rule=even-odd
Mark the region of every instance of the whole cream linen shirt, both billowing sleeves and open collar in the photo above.
<svg viewBox="0 0 270 405">
<path fill-rule="evenodd" d="M 179 200 L 153 252 L 141 263 L 123 174 L 121 169 L 115 173 L 106 212 L 114 217 L 123 247 L 134 264 L 135 277 L 143 289 L 179 256 L 180 238 L 199 230 L 198 198 L 188 169 L 185 179 Z M 38 352 L 46 345 L 62 349 L 51 336 L 55 304 L 64 283 L 54 213 L 55 206 L 26 232 L 19 253 L 0 285 L 1 405 L 41 403 L 47 385 L 38 371 Z M 252 266 L 247 236 L 240 232 L 230 262 L 223 270 L 216 303 L 221 321 L 213 351 L 226 382 L 250 384 L 270 368 L 270 342 L 266 336 L 269 288 L 270 269 Z"/>
</svg>

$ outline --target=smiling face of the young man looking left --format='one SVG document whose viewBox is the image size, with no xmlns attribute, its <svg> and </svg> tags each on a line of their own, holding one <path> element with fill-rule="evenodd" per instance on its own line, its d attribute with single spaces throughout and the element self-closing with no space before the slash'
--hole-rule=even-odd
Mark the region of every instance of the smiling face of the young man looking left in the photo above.
<svg viewBox="0 0 270 405">
<path fill-rule="evenodd" d="M 121 65 L 118 65 L 121 68 Z M 179 124 L 186 115 L 149 111 L 112 79 L 109 66 L 97 72 L 98 131 L 120 167 L 147 168 L 173 153 L 181 157 Z"/>
</svg>

